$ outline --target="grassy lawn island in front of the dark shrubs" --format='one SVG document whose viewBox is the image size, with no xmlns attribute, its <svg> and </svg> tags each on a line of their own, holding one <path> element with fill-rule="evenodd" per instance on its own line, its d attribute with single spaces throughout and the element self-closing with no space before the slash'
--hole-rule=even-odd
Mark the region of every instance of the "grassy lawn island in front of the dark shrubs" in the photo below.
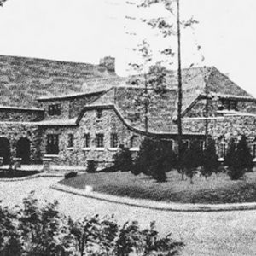
<svg viewBox="0 0 256 256">
<path fill-rule="evenodd" d="M 256 201 L 256 172 L 248 172 L 238 181 L 231 181 L 224 173 L 213 174 L 207 180 L 195 177 L 182 181 L 176 171 L 167 174 L 166 183 L 157 183 L 143 174 L 131 172 L 86 173 L 61 180 L 61 184 L 84 189 L 91 185 L 96 192 L 154 201 L 182 203 L 235 203 Z"/>
</svg>

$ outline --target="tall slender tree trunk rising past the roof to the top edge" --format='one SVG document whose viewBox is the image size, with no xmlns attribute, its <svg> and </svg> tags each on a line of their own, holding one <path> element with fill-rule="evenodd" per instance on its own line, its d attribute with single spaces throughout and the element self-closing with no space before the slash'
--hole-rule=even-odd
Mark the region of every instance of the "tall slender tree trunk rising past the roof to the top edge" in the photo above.
<svg viewBox="0 0 256 256">
<path fill-rule="evenodd" d="M 181 33 L 180 33 L 180 6 L 177 0 L 177 157 L 179 163 L 181 162 L 182 154 L 182 106 L 183 106 L 183 81 L 182 81 L 182 67 L 181 67 Z M 183 173 L 182 173 L 183 174 Z"/>
</svg>

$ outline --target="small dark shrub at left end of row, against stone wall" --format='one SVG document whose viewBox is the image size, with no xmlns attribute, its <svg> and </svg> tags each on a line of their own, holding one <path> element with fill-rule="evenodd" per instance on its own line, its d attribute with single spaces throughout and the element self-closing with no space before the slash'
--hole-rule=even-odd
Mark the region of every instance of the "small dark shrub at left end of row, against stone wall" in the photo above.
<svg viewBox="0 0 256 256">
<path fill-rule="evenodd" d="M 116 170 L 120 170 L 122 172 L 131 171 L 132 157 L 129 148 L 126 148 L 122 144 L 119 145 L 119 151 L 113 155 L 113 160 Z"/>
</svg>

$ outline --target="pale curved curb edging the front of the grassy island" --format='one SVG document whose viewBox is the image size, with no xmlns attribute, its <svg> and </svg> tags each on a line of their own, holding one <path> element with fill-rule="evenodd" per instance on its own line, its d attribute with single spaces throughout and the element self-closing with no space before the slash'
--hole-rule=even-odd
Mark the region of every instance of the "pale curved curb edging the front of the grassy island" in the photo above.
<svg viewBox="0 0 256 256">
<path fill-rule="evenodd" d="M 55 189 L 61 192 L 70 193 L 73 195 L 80 195 L 88 198 L 93 198 L 100 201 L 108 201 L 121 205 L 131 207 L 141 207 L 151 210 L 159 210 L 166 212 L 230 212 L 230 211 L 248 211 L 256 210 L 256 202 L 248 203 L 236 203 L 236 204 L 179 204 L 168 203 L 159 201 L 148 201 L 143 199 L 133 199 L 129 197 L 106 195 L 98 192 L 92 192 L 92 187 L 86 186 L 84 190 L 74 189 L 62 184 L 54 184 L 50 186 L 51 189 Z"/>
</svg>

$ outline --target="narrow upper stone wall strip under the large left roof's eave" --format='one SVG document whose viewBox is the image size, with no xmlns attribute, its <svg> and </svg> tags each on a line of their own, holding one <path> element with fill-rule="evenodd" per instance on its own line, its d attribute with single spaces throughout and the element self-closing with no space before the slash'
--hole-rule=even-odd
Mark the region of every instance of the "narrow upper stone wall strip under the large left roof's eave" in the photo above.
<svg viewBox="0 0 256 256">
<path fill-rule="evenodd" d="M 19 108 L 0 108 L 0 121 L 34 122 L 44 119 L 44 111 Z"/>
</svg>

